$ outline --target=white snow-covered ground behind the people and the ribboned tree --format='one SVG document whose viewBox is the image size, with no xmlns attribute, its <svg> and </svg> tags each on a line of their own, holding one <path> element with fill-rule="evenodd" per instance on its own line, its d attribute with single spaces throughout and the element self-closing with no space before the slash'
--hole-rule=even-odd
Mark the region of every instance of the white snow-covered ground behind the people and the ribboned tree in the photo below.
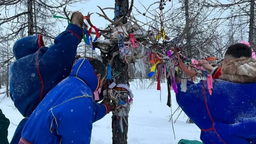
<svg viewBox="0 0 256 144">
<path fill-rule="evenodd" d="M 176 139 L 169 122 L 171 108 L 167 102 L 167 84 L 161 84 L 162 96 L 160 102 L 160 91 L 156 88 L 140 89 L 134 83 L 131 89 L 134 93 L 134 101 L 129 114 L 128 143 L 129 144 L 177 144 L 180 139 L 199 140 L 200 129 L 195 124 L 186 124 L 187 117 L 182 113 L 174 124 Z M 147 87 L 147 86 L 146 86 Z M 4 90 L 1 89 L 0 92 Z M 2 95 L 3 96 L 3 95 Z M 0 95 L 0 98 L 2 97 Z M 178 105 L 175 102 L 175 94 L 172 91 L 172 111 Z M 0 108 L 7 118 L 10 119 L 9 141 L 12 139 L 16 125 L 23 118 L 18 110 L 13 109 L 13 102 L 5 98 L 0 103 Z M 111 113 L 93 124 L 91 144 L 112 143 Z M 177 117 L 177 115 L 175 115 Z"/>
</svg>

